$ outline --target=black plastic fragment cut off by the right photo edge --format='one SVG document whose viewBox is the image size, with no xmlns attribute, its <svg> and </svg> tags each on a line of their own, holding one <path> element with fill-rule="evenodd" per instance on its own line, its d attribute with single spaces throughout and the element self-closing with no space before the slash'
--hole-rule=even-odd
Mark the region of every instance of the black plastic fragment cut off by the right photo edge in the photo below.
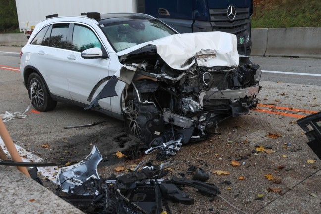
<svg viewBox="0 0 321 214">
<path fill-rule="evenodd" d="M 297 124 L 306 131 L 310 149 L 321 160 L 321 112 L 297 120 Z M 308 126 L 312 127 L 312 130 Z"/>
</svg>

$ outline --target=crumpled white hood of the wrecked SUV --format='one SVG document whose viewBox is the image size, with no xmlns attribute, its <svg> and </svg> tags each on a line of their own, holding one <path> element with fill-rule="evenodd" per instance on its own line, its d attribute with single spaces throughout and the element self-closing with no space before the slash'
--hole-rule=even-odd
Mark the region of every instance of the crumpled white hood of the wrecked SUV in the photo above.
<svg viewBox="0 0 321 214">
<path fill-rule="evenodd" d="M 172 68 L 186 70 L 195 64 L 199 66 L 238 66 L 239 55 L 234 34 L 224 32 L 200 32 L 174 34 L 149 41 L 117 53 L 129 54 L 147 45 L 155 45 L 157 54 Z"/>
</svg>

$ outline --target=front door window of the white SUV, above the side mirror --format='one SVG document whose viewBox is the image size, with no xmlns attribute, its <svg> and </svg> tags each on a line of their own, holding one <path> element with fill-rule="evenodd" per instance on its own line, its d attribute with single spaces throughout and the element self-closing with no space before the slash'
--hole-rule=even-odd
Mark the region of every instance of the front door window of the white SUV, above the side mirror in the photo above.
<svg viewBox="0 0 321 214">
<path fill-rule="evenodd" d="M 89 48 L 101 48 L 102 44 L 95 33 L 82 25 L 74 25 L 71 50 L 82 52 Z"/>
</svg>

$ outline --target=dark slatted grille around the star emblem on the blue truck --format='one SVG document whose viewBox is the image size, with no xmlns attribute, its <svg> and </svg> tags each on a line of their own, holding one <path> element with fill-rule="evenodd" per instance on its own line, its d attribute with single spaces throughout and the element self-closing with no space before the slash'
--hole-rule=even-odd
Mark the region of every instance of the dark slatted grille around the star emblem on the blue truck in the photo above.
<svg viewBox="0 0 321 214">
<path fill-rule="evenodd" d="M 216 31 L 235 34 L 237 39 L 245 38 L 249 29 L 250 8 L 236 8 L 236 17 L 233 21 L 227 17 L 227 8 L 210 9 L 211 24 Z"/>
</svg>

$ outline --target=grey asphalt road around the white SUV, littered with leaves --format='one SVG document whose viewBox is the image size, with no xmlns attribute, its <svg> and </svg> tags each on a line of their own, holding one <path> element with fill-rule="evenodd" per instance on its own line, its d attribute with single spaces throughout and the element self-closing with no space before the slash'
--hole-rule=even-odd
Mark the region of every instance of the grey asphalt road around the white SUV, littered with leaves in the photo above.
<svg viewBox="0 0 321 214">
<path fill-rule="evenodd" d="M 0 51 L 0 113 L 23 112 L 30 101 L 18 71 L 19 48 L 0 47 Z M 252 61 L 267 71 L 261 77 L 260 106 L 249 115 L 219 124 L 221 135 L 205 142 L 184 145 L 173 157 L 183 162 L 174 172 L 186 171 L 188 164 L 202 166 L 208 171 L 230 171 L 229 177 L 224 178 L 211 174 L 209 182 L 233 181 L 229 186 L 231 189 L 220 186 L 222 196 L 247 213 L 318 214 L 321 209 L 321 161 L 306 145 L 308 140 L 295 121 L 311 112 L 321 111 L 321 59 L 253 57 Z M 100 173 L 108 175 L 113 168 L 110 165 L 114 164 L 110 154 L 131 146 L 123 136 L 122 121 L 95 111 L 85 111 L 82 107 L 58 103 L 50 112 L 37 112 L 31 107 L 27 115 L 25 119 L 11 120 L 5 125 L 14 142 L 21 147 L 21 152 L 46 161 L 78 162 L 89 154 L 92 145 L 96 145 L 107 164 Z M 104 122 L 87 128 L 63 128 L 99 121 Z M 277 133 L 278 138 L 268 137 L 269 133 Z M 258 145 L 270 146 L 274 152 L 259 152 L 255 149 Z M 257 155 L 251 153 L 253 150 Z M 131 162 L 137 164 L 142 159 L 154 159 L 154 155 Z M 249 159 L 244 160 L 243 166 L 233 168 L 230 160 L 241 155 L 247 155 Z M 308 159 L 315 160 L 315 163 L 307 163 Z M 209 164 L 204 165 L 204 162 Z M 281 165 L 286 170 L 278 169 Z M 268 173 L 278 173 L 282 183 L 275 184 L 265 179 L 263 175 Z M 245 181 L 237 179 L 241 175 Z M 281 196 L 263 191 L 272 186 L 280 187 L 282 194 L 286 194 Z M 258 194 L 264 194 L 265 199 L 254 200 Z M 192 196 L 198 197 L 196 193 Z M 208 199 L 199 198 L 193 207 L 175 205 L 173 213 L 208 213 L 210 206 L 223 214 L 237 212 L 223 201 L 211 203 Z"/>
</svg>

